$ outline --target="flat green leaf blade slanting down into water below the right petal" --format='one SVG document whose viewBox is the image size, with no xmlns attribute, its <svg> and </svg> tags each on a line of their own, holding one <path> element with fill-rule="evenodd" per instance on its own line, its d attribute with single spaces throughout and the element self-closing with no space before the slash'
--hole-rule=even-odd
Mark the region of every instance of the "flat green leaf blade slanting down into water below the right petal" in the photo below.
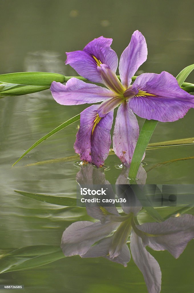
<svg viewBox="0 0 194 293">
<path fill-rule="evenodd" d="M 146 119 L 141 128 L 141 132 L 139 134 L 139 138 L 136 144 L 136 148 L 131 161 L 131 166 L 129 169 L 129 178 L 131 181 L 136 180 L 137 172 L 139 170 L 143 154 L 146 151 L 146 147 L 150 141 L 150 138 L 155 130 L 157 123 L 157 120 Z"/>
</svg>

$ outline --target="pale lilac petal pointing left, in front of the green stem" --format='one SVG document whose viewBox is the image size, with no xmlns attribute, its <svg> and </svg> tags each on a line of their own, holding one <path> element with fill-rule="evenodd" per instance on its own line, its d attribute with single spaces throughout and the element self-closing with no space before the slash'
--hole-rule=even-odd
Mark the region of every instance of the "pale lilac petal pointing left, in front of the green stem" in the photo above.
<svg viewBox="0 0 194 293">
<path fill-rule="evenodd" d="M 53 81 L 50 90 L 53 98 L 61 105 L 97 103 L 113 96 L 107 88 L 87 84 L 77 78 L 69 79 L 66 85 Z"/>
</svg>

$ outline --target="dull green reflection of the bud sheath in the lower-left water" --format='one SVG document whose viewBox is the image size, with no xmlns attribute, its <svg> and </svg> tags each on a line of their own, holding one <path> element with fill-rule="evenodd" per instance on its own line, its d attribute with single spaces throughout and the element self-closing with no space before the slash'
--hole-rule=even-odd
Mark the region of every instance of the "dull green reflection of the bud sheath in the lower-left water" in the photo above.
<svg viewBox="0 0 194 293">
<path fill-rule="evenodd" d="M 26 246 L 1 255 L 0 273 L 27 270 L 65 258 L 60 247 Z"/>
</svg>

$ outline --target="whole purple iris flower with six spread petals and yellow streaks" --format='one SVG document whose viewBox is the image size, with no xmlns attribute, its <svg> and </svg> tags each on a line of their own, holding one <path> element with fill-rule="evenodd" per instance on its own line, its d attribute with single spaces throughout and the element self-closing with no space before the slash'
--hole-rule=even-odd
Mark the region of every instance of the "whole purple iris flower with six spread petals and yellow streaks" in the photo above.
<svg viewBox="0 0 194 293">
<path fill-rule="evenodd" d="M 78 74 L 107 88 L 71 78 L 66 85 L 53 81 L 51 93 L 62 105 L 97 103 L 80 116 L 80 128 L 74 144 L 81 160 L 101 166 L 109 154 L 113 110 L 119 106 L 113 132 L 113 149 L 124 166 L 129 167 L 139 135 L 137 114 L 148 120 L 171 122 L 182 118 L 194 107 L 193 96 L 183 91 L 174 76 L 144 73 L 131 85 L 131 78 L 147 59 L 144 36 L 136 30 L 119 62 L 120 80 L 116 76 L 117 54 L 110 48 L 112 39 L 99 37 L 83 51 L 67 54 Z M 134 112 L 134 113 L 133 113 Z"/>
</svg>

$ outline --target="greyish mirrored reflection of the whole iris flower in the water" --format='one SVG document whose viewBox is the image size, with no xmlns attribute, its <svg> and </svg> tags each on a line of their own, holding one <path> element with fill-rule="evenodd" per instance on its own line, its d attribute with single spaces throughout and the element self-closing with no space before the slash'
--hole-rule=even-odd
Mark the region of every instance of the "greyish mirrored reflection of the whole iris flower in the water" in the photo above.
<svg viewBox="0 0 194 293">
<path fill-rule="evenodd" d="M 117 179 L 117 197 L 123 196 L 122 184 L 127 184 L 126 169 Z M 144 176 L 144 177 L 143 177 Z M 141 183 L 145 174 L 138 174 Z M 144 178 L 144 179 L 143 179 Z M 102 169 L 92 165 L 81 166 L 77 182 L 82 184 L 110 184 Z M 119 188 L 120 186 L 120 188 Z M 126 186 L 126 185 L 125 185 Z M 126 188 L 125 188 L 126 189 Z M 115 196 L 113 191 L 109 197 Z M 96 204 L 86 205 L 87 213 L 97 222 L 81 221 L 71 224 L 62 236 L 61 248 L 65 256 L 80 255 L 82 258 L 104 257 L 127 266 L 132 256 L 142 272 L 149 293 L 161 290 L 161 270 L 155 258 L 146 250 L 149 246 L 155 251 L 167 250 L 175 258 L 186 248 L 194 237 L 194 217 L 184 214 L 171 217 L 161 223 L 138 224 L 137 214 L 142 209 L 134 194 L 127 195 L 127 206 L 121 203 L 124 213 L 119 214 L 115 206 L 105 207 Z M 130 243 L 130 251 L 128 247 Z"/>
</svg>

